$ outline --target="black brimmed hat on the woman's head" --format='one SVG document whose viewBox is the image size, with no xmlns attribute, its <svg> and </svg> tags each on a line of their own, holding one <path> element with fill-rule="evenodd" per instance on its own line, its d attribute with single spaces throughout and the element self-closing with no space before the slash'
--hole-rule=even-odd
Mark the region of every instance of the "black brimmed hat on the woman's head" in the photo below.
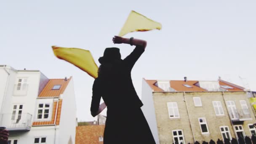
<svg viewBox="0 0 256 144">
<path fill-rule="evenodd" d="M 106 62 L 121 62 L 121 54 L 119 48 L 106 48 L 104 55 L 99 58 L 99 63 L 103 64 Z"/>
</svg>

